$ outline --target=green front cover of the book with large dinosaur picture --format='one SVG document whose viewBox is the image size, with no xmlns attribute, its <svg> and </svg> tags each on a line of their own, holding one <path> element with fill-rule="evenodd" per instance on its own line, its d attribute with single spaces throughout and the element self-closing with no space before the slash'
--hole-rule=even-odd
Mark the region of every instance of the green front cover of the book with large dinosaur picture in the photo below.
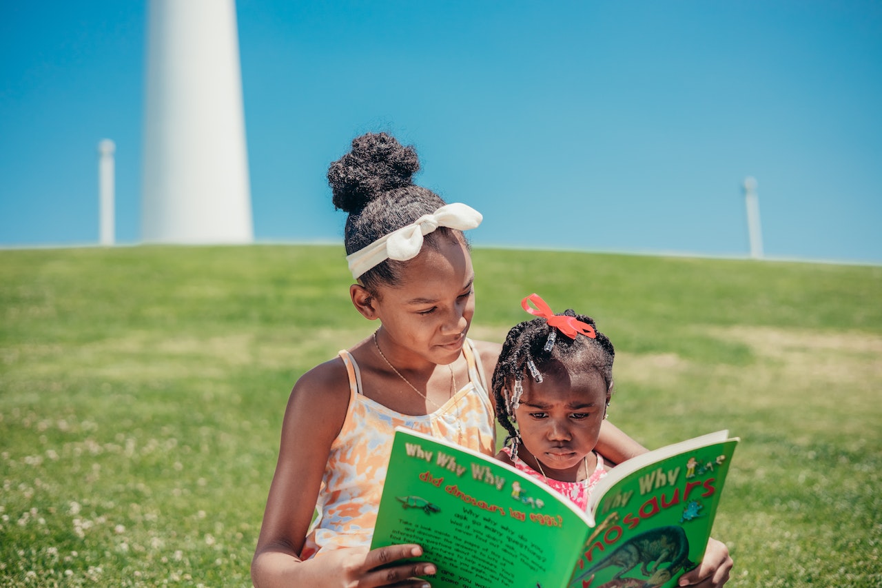
<svg viewBox="0 0 882 588">
<path fill-rule="evenodd" d="M 596 526 L 570 588 L 668 588 L 701 562 L 738 442 L 714 436 L 726 432 L 662 448 L 654 460 L 650 452 L 637 471 L 623 475 L 625 462 L 602 480 L 609 489 L 589 504 Z"/>
</svg>

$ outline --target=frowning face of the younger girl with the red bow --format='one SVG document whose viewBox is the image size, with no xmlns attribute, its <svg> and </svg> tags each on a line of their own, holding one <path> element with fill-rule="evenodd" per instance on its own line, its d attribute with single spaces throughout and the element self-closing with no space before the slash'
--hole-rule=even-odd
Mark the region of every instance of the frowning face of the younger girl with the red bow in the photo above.
<svg viewBox="0 0 882 588">
<path fill-rule="evenodd" d="M 609 392 L 601 374 L 593 370 L 569 373 L 553 360 L 540 371 L 542 383 L 525 377 L 515 411 L 522 447 L 527 449 L 518 455 L 551 479 L 576 481 L 584 457 L 597 445 Z M 531 463 L 535 460 L 542 468 Z"/>
</svg>

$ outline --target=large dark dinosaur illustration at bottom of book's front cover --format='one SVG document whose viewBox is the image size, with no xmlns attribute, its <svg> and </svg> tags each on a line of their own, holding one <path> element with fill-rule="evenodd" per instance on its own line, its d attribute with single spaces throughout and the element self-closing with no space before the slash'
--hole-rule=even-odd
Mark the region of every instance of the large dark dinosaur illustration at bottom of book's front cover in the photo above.
<svg viewBox="0 0 882 588">
<path fill-rule="evenodd" d="M 650 566 L 652 562 L 654 565 Z M 669 562 L 668 567 L 659 569 L 663 562 Z M 612 577 L 613 580 L 618 580 L 638 564 L 643 576 L 649 577 L 643 584 L 645 588 L 664 584 L 678 570 L 688 571 L 696 565 L 689 561 L 689 539 L 686 539 L 683 529 L 676 526 L 659 527 L 628 539 L 575 579 L 579 581 L 593 576 L 601 569 L 618 566 L 621 569 Z"/>
</svg>

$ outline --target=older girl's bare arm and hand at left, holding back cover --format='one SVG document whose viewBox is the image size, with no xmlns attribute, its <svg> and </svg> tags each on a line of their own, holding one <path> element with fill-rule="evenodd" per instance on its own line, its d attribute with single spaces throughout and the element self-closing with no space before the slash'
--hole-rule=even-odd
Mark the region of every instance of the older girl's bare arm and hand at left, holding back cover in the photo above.
<svg viewBox="0 0 882 588">
<path fill-rule="evenodd" d="M 331 444 L 349 401 L 346 372 L 339 361 L 311 370 L 297 381 L 282 423 L 279 461 L 266 500 L 258 546 L 251 562 L 256 588 L 273 586 L 346 586 L 365 588 L 434 574 L 427 563 L 402 563 L 377 570 L 377 566 L 422 554 L 415 545 L 339 549 L 310 560 L 300 553 L 312 520 Z M 422 586 L 412 580 L 401 586 Z"/>
</svg>

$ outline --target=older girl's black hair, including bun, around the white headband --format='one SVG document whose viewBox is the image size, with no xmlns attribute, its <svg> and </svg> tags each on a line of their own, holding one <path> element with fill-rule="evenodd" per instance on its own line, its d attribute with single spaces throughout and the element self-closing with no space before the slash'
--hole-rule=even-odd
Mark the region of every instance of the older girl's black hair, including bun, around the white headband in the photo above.
<svg viewBox="0 0 882 588">
<path fill-rule="evenodd" d="M 413 183 L 420 162 L 414 147 L 404 147 L 385 132 L 366 133 L 352 141 L 352 150 L 328 169 L 333 206 L 348 213 L 343 240 L 346 253 L 355 253 L 393 230 L 434 213 L 446 202 L 435 192 Z M 459 230 L 439 227 L 423 237 L 433 249 L 439 238 L 457 238 Z M 358 276 L 368 290 L 399 283 L 401 264 L 385 260 Z"/>
</svg>

